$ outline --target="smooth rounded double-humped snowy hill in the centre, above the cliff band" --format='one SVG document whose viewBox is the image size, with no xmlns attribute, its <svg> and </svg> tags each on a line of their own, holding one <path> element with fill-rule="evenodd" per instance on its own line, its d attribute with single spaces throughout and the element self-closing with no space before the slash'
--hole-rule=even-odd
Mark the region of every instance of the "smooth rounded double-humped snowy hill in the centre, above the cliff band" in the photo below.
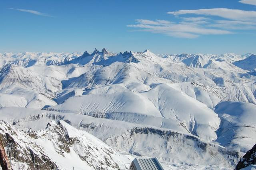
<svg viewBox="0 0 256 170">
<path fill-rule="evenodd" d="M 107 94 L 104 94 L 102 88 L 95 90 L 97 94 L 94 90 L 92 91 L 90 94 L 69 98 L 63 104 L 50 108 L 59 112 L 86 115 L 92 115 L 92 113 L 102 116 L 118 115 L 120 120 L 129 115 L 133 119 L 134 114 L 141 117 L 136 121 L 144 119 L 145 116 L 162 117 L 169 119 L 168 121 L 173 124 L 182 123 L 185 130 L 205 140 L 212 141 L 217 137 L 215 131 L 220 124 L 217 114 L 194 98 L 167 85 L 160 84 L 148 92 L 141 93 L 130 92 L 118 86 L 115 86 L 113 92 L 107 90 Z M 133 122 L 133 120 L 126 121 Z M 172 126 L 163 125 L 161 127 L 172 128 Z"/>
</svg>

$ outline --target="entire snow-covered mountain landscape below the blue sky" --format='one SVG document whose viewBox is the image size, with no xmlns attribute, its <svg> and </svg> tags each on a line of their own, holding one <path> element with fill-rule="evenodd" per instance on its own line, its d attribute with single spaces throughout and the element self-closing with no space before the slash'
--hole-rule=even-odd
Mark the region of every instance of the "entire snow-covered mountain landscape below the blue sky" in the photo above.
<svg viewBox="0 0 256 170">
<path fill-rule="evenodd" d="M 44 153 L 51 166 L 64 169 L 60 162 L 97 169 L 82 155 L 88 153 L 86 147 L 65 137 L 64 125 L 73 126 L 79 139 L 92 134 L 109 145 L 104 145 L 102 158 L 94 154 L 88 158 L 105 169 L 130 163 L 134 158 L 130 154 L 158 157 L 170 169 L 189 169 L 190 164 L 234 168 L 256 143 L 256 66 L 251 63 L 255 58 L 254 54 L 156 55 L 149 50 L 114 54 L 106 49 L 91 54 L 0 54 L 0 120 L 5 121 L 0 128 L 10 126 L 28 136 L 28 140 L 12 138 L 24 153 L 33 152 L 41 159 Z M 49 122 L 58 127 L 58 139 L 64 136 L 66 149 L 46 137 L 52 133 L 51 128 L 45 130 Z M 84 141 L 85 146 L 103 146 L 96 139 Z M 22 142 L 31 147 L 34 142 L 43 151 L 31 151 Z M 122 156 L 115 159 L 105 148 Z M 31 161 L 22 163 L 14 156 L 11 162 L 26 169 L 32 167 Z"/>
</svg>

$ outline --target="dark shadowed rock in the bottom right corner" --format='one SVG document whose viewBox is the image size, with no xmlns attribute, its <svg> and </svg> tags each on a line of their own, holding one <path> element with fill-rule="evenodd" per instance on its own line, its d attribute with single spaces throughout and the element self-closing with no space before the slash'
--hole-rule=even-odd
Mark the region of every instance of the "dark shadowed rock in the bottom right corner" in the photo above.
<svg viewBox="0 0 256 170">
<path fill-rule="evenodd" d="M 252 147 L 252 149 L 248 150 L 246 154 L 243 156 L 243 158 L 238 162 L 235 170 L 240 169 L 252 169 L 254 165 L 254 168 L 256 167 L 256 144 Z"/>
</svg>

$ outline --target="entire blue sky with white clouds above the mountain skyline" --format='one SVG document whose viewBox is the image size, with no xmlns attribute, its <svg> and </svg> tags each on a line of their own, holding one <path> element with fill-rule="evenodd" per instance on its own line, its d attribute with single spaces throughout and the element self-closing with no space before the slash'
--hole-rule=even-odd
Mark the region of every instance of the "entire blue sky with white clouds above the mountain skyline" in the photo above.
<svg viewBox="0 0 256 170">
<path fill-rule="evenodd" d="M 256 0 L 1 0 L 0 52 L 256 53 Z"/>
</svg>

